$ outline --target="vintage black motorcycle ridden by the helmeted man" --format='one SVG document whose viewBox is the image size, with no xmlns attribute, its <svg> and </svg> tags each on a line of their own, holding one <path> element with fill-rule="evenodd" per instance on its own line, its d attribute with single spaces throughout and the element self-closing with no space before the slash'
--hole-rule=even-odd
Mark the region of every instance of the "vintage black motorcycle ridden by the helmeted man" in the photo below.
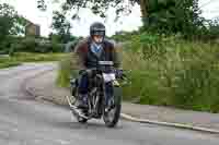
<svg viewBox="0 0 219 145">
<path fill-rule="evenodd" d="M 115 70 L 113 64 L 113 61 L 99 61 L 95 74 L 89 83 L 88 109 L 78 109 L 74 106 L 79 95 L 78 80 L 71 80 L 71 99 L 74 101 L 71 102 L 69 97 L 67 99 L 72 114 L 79 122 L 85 123 L 92 118 L 103 118 L 108 128 L 117 124 L 122 109 L 122 88 L 118 80 L 123 80 L 125 75 L 122 70 Z"/>
</svg>

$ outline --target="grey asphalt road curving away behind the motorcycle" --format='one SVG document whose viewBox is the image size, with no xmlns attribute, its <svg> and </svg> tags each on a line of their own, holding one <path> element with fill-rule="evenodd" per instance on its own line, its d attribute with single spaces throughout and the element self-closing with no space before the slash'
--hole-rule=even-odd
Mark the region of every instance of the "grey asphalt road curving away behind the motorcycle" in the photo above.
<svg viewBox="0 0 219 145">
<path fill-rule="evenodd" d="M 23 92 L 30 76 L 50 64 L 24 64 L 0 71 L 0 145 L 218 145 L 219 135 L 122 120 L 78 123 L 68 109 L 36 101 Z"/>
</svg>

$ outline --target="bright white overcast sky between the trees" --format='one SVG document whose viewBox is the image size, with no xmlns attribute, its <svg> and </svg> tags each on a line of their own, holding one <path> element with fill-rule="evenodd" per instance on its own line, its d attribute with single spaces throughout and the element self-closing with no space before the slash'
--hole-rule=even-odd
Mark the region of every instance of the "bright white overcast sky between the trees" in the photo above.
<svg viewBox="0 0 219 145">
<path fill-rule="evenodd" d="M 50 0 L 51 1 L 51 0 Z M 56 0 L 61 1 L 61 0 Z M 7 2 L 15 7 L 16 11 L 30 21 L 41 25 L 41 34 L 47 36 L 50 33 L 51 14 L 54 10 L 59 10 L 58 3 L 49 4 L 46 12 L 41 12 L 36 8 L 36 0 L 0 0 L 0 2 Z M 203 10 L 203 15 L 206 19 L 212 19 L 219 16 L 219 0 L 200 0 L 199 5 Z M 89 10 L 83 9 L 80 11 L 81 20 L 80 22 L 72 23 L 72 34 L 76 36 L 87 36 L 89 34 L 89 26 L 94 21 L 101 21 L 106 25 L 106 34 L 113 35 L 118 31 L 134 31 L 141 26 L 140 20 L 140 8 L 138 5 L 134 7 L 132 13 L 128 16 L 123 16 L 120 21 L 114 22 L 115 13 L 114 10 L 110 10 L 108 15 L 111 15 L 106 22 L 104 22 L 99 16 L 92 14 Z"/>
</svg>

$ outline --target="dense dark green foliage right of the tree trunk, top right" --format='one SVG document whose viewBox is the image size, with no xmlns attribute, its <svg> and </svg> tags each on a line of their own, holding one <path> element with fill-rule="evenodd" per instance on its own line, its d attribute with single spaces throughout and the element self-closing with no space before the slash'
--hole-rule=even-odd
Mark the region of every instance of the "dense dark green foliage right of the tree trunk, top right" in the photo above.
<svg viewBox="0 0 219 145">
<path fill-rule="evenodd" d="M 149 0 L 145 28 L 191 35 L 204 26 L 198 0 Z"/>
</svg>

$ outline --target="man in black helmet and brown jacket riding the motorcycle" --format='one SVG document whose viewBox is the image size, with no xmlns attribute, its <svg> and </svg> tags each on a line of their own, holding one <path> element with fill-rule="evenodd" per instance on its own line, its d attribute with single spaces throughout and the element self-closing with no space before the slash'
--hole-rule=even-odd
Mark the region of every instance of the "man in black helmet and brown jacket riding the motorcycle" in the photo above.
<svg viewBox="0 0 219 145">
<path fill-rule="evenodd" d="M 73 60 L 79 69 L 79 98 L 76 106 L 88 108 L 89 80 L 94 75 L 99 61 L 113 61 L 119 68 L 118 55 L 115 46 L 105 39 L 105 26 L 95 22 L 90 26 L 90 37 L 81 40 L 74 48 Z"/>
</svg>

